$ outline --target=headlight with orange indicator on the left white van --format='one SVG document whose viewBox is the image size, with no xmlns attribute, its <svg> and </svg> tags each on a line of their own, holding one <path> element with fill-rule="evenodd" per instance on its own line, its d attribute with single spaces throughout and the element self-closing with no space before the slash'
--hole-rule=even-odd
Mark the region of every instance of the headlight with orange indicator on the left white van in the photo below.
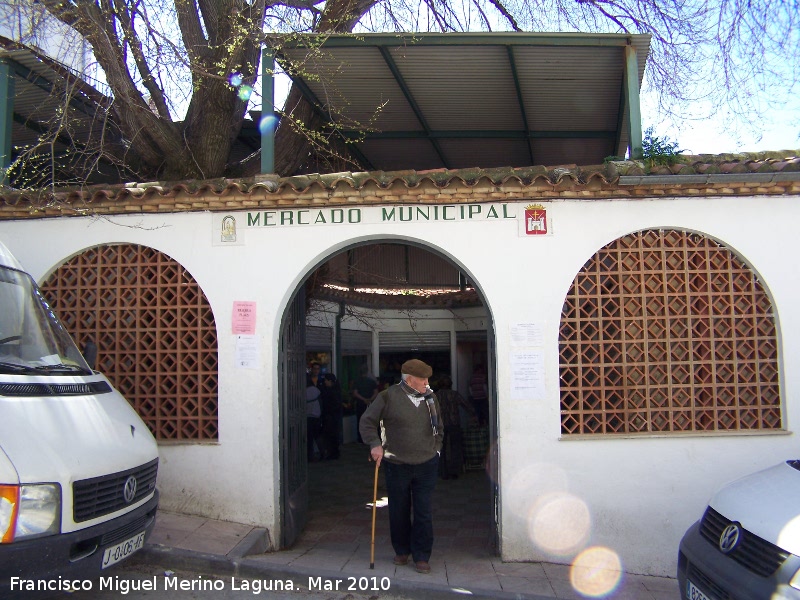
<svg viewBox="0 0 800 600">
<path fill-rule="evenodd" d="M 0 485 L 0 543 L 61 531 L 61 486 Z"/>
</svg>

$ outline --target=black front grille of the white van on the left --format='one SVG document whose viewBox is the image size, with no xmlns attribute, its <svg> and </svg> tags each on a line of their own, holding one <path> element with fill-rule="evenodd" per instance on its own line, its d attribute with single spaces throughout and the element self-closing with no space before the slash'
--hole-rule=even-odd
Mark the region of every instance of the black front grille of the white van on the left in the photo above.
<svg viewBox="0 0 800 600">
<path fill-rule="evenodd" d="M 127 471 L 76 481 L 72 484 L 73 519 L 80 523 L 136 504 L 155 490 L 157 475 L 156 458 Z M 131 476 L 136 478 L 136 494 L 130 502 L 126 502 L 125 482 Z"/>
</svg>

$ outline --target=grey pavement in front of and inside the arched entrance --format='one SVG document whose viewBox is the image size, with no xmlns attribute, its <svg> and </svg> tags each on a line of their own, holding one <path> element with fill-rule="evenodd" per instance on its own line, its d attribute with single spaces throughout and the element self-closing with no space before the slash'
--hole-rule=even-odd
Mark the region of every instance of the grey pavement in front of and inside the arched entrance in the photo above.
<svg viewBox="0 0 800 600">
<path fill-rule="evenodd" d="M 437 484 L 430 574 L 392 563 L 381 477 L 375 562 L 370 568 L 374 470 L 365 462 L 366 456 L 364 446 L 346 444 L 339 460 L 309 463 L 308 523 L 291 548 L 275 551 L 263 528 L 160 510 L 155 530 L 137 560 L 223 577 L 291 579 L 304 589 L 309 578 L 320 578 L 315 581 L 328 582 L 323 586 L 338 591 L 347 591 L 355 583 L 356 592 L 377 592 L 379 597 L 679 598 L 674 578 L 544 562 L 503 562 L 494 549 L 490 488 L 481 469 Z M 338 588 L 334 587 L 337 581 Z M 359 585 L 367 589 L 358 589 Z"/>
</svg>

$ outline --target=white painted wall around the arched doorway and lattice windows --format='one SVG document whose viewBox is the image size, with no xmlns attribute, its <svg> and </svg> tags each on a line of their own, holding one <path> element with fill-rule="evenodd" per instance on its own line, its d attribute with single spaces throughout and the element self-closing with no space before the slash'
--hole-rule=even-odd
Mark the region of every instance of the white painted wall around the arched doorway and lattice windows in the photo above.
<svg viewBox="0 0 800 600">
<path fill-rule="evenodd" d="M 0 240 L 40 281 L 71 255 L 113 242 L 154 247 L 191 272 L 218 326 L 220 435 L 214 444 L 162 444 L 162 506 L 266 526 L 273 539 L 280 524 L 276 348 L 293 290 L 320 261 L 352 243 L 429 244 L 477 282 L 494 319 L 503 557 L 569 562 L 585 547 L 603 546 L 627 571 L 674 576 L 678 541 L 714 489 L 798 457 L 792 432 L 800 418 L 799 382 L 791 366 L 800 360 L 800 270 L 787 251 L 800 203 L 796 197 L 593 200 L 552 202 L 547 209 L 553 234 L 527 238 L 509 220 L 362 223 L 249 229 L 241 245 L 221 247 L 212 244 L 210 213 L 181 213 L 4 221 Z M 564 296 L 599 248 L 653 227 L 715 237 L 760 275 L 778 314 L 787 433 L 561 438 L 557 340 Z M 258 303 L 263 369 L 233 366 L 236 300 Z M 544 327 L 541 400 L 511 400 L 510 358 L 520 348 L 512 346 L 510 331 L 520 322 Z"/>
</svg>

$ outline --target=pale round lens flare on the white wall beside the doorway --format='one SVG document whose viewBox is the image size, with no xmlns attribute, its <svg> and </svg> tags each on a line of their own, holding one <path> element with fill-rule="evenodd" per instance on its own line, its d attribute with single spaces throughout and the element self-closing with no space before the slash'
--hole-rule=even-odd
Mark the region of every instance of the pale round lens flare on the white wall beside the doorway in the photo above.
<svg viewBox="0 0 800 600">
<path fill-rule="evenodd" d="M 589 540 L 592 517 L 586 503 L 566 492 L 537 500 L 528 516 L 528 535 L 541 550 L 554 556 L 570 556 Z"/>
</svg>

